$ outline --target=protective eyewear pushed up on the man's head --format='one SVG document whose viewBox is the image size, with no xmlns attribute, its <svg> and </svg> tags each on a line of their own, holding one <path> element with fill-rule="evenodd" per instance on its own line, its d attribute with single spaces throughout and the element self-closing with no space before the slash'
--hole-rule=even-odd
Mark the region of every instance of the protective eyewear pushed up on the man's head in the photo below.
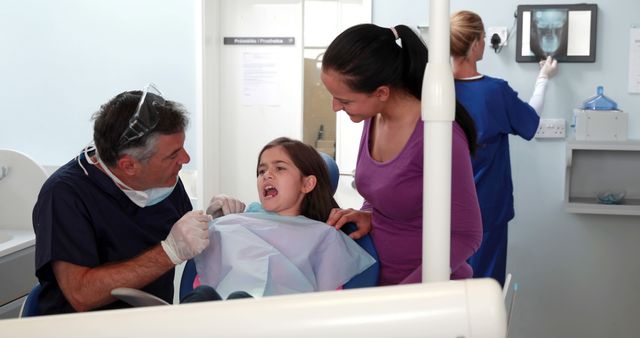
<svg viewBox="0 0 640 338">
<path fill-rule="evenodd" d="M 163 103 L 164 98 L 162 98 L 162 93 L 160 93 L 153 83 L 144 87 L 136 112 L 131 116 L 129 126 L 122 133 L 122 136 L 120 136 L 118 142 L 120 146 L 140 139 L 155 128 L 160 119 L 155 106 Z"/>
</svg>

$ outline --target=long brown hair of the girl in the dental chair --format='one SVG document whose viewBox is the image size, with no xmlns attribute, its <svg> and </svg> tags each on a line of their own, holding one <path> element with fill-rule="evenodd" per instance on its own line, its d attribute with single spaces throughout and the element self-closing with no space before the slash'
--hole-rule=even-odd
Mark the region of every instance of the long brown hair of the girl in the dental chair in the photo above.
<svg viewBox="0 0 640 338">
<path fill-rule="evenodd" d="M 262 153 L 267 149 L 278 146 L 282 147 L 291 157 L 293 164 L 303 176 L 313 175 L 316 177 L 315 188 L 302 199 L 300 214 L 316 221 L 326 222 L 331 209 L 338 208 L 338 203 L 331 194 L 331 182 L 327 165 L 313 147 L 287 137 L 279 137 L 269 142 L 260 151 L 256 173 L 260 167 Z"/>
</svg>

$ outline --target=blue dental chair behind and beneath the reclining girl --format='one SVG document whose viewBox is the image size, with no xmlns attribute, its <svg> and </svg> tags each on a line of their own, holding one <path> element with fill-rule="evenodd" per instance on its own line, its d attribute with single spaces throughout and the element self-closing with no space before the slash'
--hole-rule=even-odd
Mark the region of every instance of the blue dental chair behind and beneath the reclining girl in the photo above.
<svg viewBox="0 0 640 338">
<path fill-rule="evenodd" d="M 320 152 L 322 159 L 324 159 L 325 164 L 327 165 L 327 169 L 329 171 L 329 180 L 331 183 L 331 192 L 335 194 L 338 189 L 338 181 L 340 180 L 340 170 L 338 169 L 338 164 L 333 159 L 333 157 Z M 355 223 L 347 223 L 342 228 L 340 228 L 347 235 L 357 230 Z M 378 276 L 380 273 L 380 263 L 378 259 L 378 253 L 373 245 L 373 240 L 371 236 L 366 235 L 360 239 L 355 240 L 360 247 L 362 247 L 371 257 L 373 257 L 376 262 L 367 268 L 365 271 L 360 274 L 354 276 L 349 280 L 346 284 L 342 286 L 343 289 L 355 289 L 355 288 L 365 288 L 371 286 L 378 285 Z M 196 277 L 196 264 L 193 259 L 190 259 L 186 262 L 184 266 L 184 270 L 182 272 L 182 277 L 180 279 L 180 297 L 182 300 L 184 297 L 189 294 L 189 292 L 193 291 L 193 282 Z"/>
</svg>

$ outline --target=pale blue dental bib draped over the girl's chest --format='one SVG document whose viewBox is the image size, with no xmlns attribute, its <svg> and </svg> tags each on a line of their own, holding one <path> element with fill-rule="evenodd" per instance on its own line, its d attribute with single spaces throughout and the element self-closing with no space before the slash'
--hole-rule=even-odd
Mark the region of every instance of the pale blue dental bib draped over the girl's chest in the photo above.
<svg viewBox="0 0 640 338">
<path fill-rule="evenodd" d="M 342 231 L 304 216 L 219 217 L 209 223 L 209 240 L 196 269 L 223 298 L 335 290 L 375 262 Z"/>
</svg>

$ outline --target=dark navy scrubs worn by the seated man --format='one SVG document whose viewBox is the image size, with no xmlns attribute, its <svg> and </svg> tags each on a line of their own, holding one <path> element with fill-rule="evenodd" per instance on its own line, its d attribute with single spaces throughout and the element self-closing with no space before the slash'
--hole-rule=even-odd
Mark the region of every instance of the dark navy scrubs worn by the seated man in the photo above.
<svg viewBox="0 0 640 338">
<path fill-rule="evenodd" d="M 127 260 L 158 245 L 173 224 L 192 209 L 181 181 L 164 201 L 140 208 L 95 166 L 80 156 L 45 182 L 33 209 L 36 276 L 42 285 L 41 314 L 75 312 L 56 282 L 51 262 L 90 268 Z M 174 270 L 142 290 L 171 303 Z M 129 307 L 114 302 L 97 310 Z"/>
</svg>

